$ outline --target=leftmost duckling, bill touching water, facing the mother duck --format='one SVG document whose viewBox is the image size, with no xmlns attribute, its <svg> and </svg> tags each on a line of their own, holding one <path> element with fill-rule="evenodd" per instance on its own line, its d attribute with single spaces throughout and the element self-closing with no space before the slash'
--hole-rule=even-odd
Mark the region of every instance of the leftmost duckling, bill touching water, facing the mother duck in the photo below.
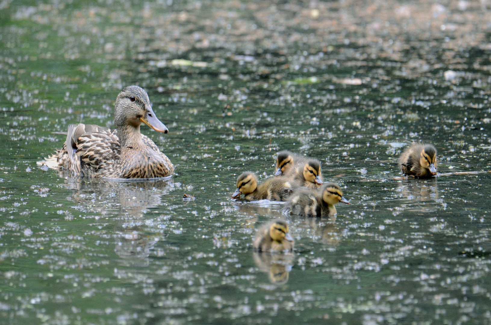
<svg viewBox="0 0 491 325">
<path fill-rule="evenodd" d="M 286 177 L 271 177 L 257 185 L 257 177 L 253 172 L 246 171 L 237 178 L 237 190 L 233 199 L 245 195 L 246 200 L 284 201 L 293 191 L 292 183 Z"/>
</svg>

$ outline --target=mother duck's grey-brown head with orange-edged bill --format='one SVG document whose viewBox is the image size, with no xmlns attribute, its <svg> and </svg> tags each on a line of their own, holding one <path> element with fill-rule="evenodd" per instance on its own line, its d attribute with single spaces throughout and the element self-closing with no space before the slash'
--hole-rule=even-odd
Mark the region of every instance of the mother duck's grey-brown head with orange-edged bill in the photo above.
<svg viewBox="0 0 491 325">
<path fill-rule="evenodd" d="M 114 125 L 121 130 L 127 126 L 139 128 L 142 122 L 155 131 L 169 132 L 164 123 L 155 116 L 146 91 L 138 86 L 128 86 L 116 98 Z"/>
</svg>

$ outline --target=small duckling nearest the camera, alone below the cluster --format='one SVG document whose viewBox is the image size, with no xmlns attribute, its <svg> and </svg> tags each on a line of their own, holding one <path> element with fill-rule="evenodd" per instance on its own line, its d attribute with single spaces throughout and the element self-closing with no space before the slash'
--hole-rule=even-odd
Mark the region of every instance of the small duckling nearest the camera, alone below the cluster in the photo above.
<svg viewBox="0 0 491 325">
<path fill-rule="evenodd" d="M 293 244 L 288 223 L 283 219 L 275 219 L 259 228 L 252 246 L 259 252 L 282 252 L 293 250 Z"/>
</svg>

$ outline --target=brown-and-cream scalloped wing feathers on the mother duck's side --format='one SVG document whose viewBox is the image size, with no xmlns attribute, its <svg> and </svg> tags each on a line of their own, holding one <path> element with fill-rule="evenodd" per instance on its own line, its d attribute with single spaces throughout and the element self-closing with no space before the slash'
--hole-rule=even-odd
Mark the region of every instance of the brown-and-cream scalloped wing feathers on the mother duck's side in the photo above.
<svg viewBox="0 0 491 325">
<path fill-rule="evenodd" d="M 95 171 L 118 160 L 121 152 L 119 138 L 115 132 L 107 128 L 80 135 L 76 146 L 81 168 Z"/>
</svg>

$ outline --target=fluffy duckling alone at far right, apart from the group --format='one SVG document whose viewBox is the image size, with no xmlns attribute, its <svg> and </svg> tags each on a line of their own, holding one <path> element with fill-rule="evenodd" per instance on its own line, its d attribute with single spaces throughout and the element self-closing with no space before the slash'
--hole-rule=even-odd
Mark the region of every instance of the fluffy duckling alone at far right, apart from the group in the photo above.
<svg viewBox="0 0 491 325">
<path fill-rule="evenodd" d="M 428 178 L 436 175 L 436 148 L 431 144 L 412 143 L 402 153 L 399 168 L 405 176 Z"/>
</svg>

